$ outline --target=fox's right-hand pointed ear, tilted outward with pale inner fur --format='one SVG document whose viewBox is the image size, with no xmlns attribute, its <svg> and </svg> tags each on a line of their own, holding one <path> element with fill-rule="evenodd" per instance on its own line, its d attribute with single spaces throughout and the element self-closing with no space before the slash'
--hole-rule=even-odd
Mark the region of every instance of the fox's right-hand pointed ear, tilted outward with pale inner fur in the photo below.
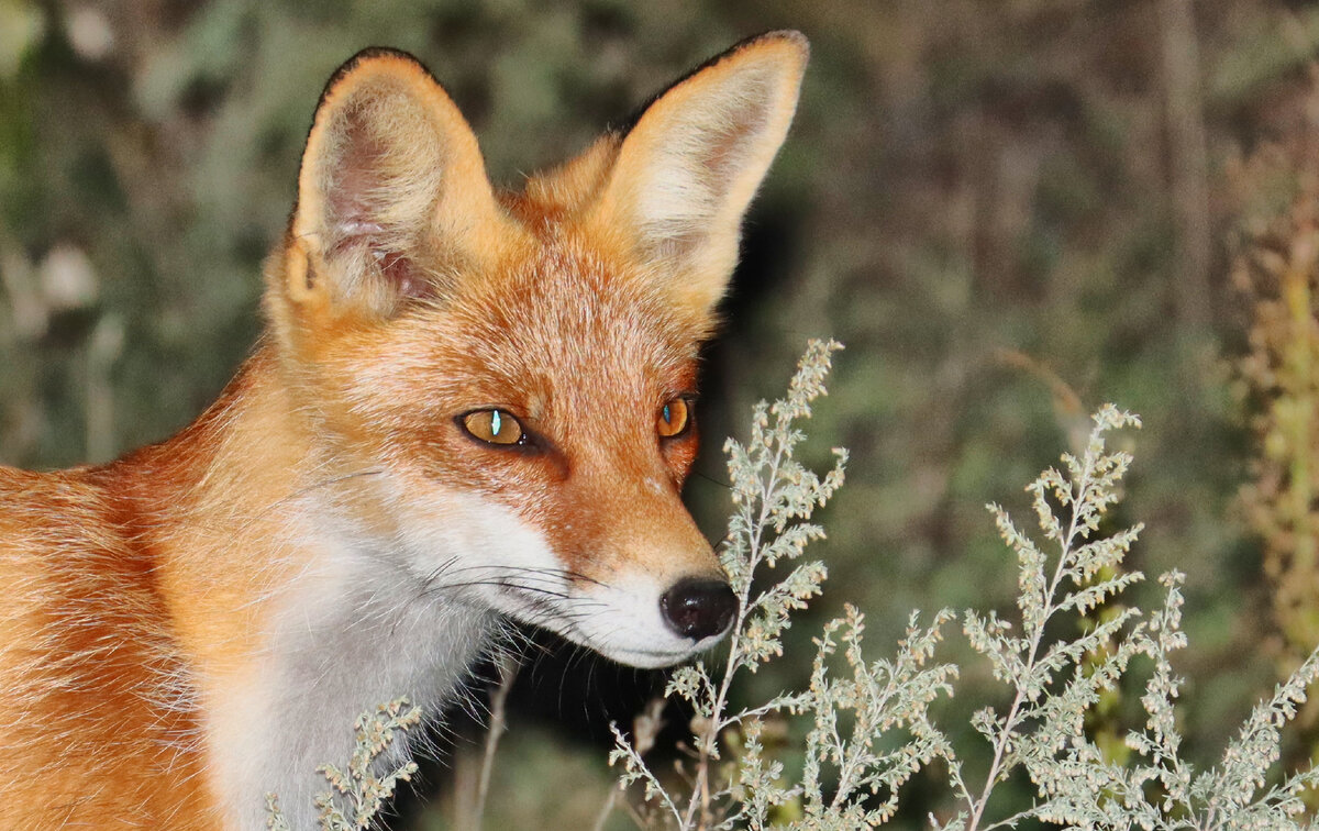
<svg viewBox="0 0 1319 831">
<path fill-rule="evenodd" d="M 799 32 L 744 41 L 657 98 L 623 137 L 594 219 L 710 314 L 737 262 L 743 215 L 797 109 Z"/>
</svg>

